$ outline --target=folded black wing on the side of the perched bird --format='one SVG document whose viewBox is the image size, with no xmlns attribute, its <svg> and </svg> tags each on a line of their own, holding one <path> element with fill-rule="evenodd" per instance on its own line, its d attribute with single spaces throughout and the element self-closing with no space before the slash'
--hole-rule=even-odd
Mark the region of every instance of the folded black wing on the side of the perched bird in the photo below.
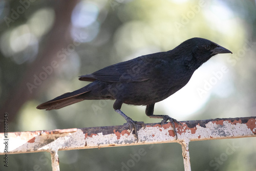
<svg viewBox="0 0 256 171">
<path fill-rule="evenodd" d="M 92 74 L 82 75 L 81 81 L 101 80 L 106 82 L 140 82 L 150 79 L 154 63 L 162 60 L 165 52 L 140 56 L 131 60 L 116 63 Z M 153 65 L 153 66 L 152 66 Z"/>
</svg>

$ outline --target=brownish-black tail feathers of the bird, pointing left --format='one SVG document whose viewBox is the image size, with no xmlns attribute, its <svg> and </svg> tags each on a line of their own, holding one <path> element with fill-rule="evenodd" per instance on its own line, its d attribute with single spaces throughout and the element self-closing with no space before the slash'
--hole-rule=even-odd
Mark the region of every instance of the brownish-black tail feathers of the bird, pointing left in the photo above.
<svg viewBox="0 0 256 171">
<path fill-rule="evenodd" d="M 60 109 L 60 108 L 63 108 L 67 105 L 70 105 L 70 104 L 74 104 L 74 103 L 77 103 L 79 101 L 82 101 L 84 99 L 80 99 L 80 98 L 77 98 L 78 96 L 84 94 L 84 93 L 87 93 L 89 91 L 85 91 L 84 90 L 84 87 L 79 89 L 79 90 L 76 90 L 74 92 L 71 92 L 71 93 L 65 93 L 65 94 L 62 94 L 50 101 L 47 101 L 45 103 L 42 103 L 42 104 L 39 104 L 36 109 L 46 109 L 47 111 L 49 110 L 53 110 L 53 109 Z"/>
</svg>

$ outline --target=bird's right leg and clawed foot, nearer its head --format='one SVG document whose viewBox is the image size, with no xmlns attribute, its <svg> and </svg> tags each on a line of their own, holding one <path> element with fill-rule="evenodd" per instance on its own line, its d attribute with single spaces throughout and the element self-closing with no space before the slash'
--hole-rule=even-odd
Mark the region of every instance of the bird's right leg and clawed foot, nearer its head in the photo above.
<svg viewBox="0 0 256 171">
<path fill-rule="evenodd" d="M 153 104 L 149 104 L 146 106 L 146 115 L 150 118 L 162 118 L 163 120 L 161 121 L 161 125 L 163 125 L 164 123 L 166 123 L 168 120 L 170 121 L 170 123 L 173 125 L 173 129 L 174 129 L 174 135 L 176 137 L 177 140 L 177 131 L 175 129 L 175 123 L 182 125 L 179 121 L 177 121 L 176 119 L 169 117 L 168 115 L 153 115 L 154 113 L 154 106 L 155 103 Z"/>
</svg>

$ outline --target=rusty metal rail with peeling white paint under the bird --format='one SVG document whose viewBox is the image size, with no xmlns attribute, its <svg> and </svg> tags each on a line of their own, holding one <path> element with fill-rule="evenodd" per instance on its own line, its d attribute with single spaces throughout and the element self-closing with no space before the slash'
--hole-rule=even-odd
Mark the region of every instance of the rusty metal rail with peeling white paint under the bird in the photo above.
<svg viewBox="0 0 256 171">
<path fill-rule="evenodd" d="M 181 121 L 176 124 L 178 139 L 168 122 L 138 126 L 139 140 L 126 126 L 88 127 L 52 131 L 0 133 L 1 141 L 8 141 L 8 155 L 19 153 L 49 152 L 52 169 L 59 170 L 58 151 L 71 149 L 101 148 L 110 146 L 142 145 L 178 142 L 182 145 L 184 169 L 191 170 L 188 144 L 190 141 L 256 137 L 256 117 L 217 118 Z M 0 145 L 0 155 L 6 155 L 5 144 Z"/>
</svg>

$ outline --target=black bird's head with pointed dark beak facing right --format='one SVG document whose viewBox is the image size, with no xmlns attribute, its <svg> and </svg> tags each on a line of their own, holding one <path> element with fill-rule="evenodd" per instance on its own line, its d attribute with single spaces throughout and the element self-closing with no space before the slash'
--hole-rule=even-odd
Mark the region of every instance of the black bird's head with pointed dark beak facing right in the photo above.
<svg viewBox="0 0 256 171">
<path fill-rule="evenodd" d="M 222 46 L 204 38 L 190 38 L 177 47 L 177 50 L 186 53 L 187 60 L 196 59 L 198 67 L 200 67 L 204 62 L 210 59 L 212 56 L 219 53 L 232 53 L 231 51 L 223 48 Z M 195 60 L 193 60 L 195 61 Z"/>
</svg>

